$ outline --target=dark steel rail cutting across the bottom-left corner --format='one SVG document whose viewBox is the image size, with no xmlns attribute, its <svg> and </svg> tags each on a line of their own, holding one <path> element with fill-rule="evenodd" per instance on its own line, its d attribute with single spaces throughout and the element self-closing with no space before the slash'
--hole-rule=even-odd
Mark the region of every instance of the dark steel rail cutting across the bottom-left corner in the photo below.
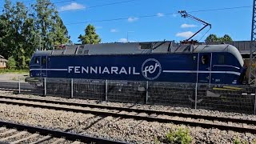
<svg viewBox="0 0 256 144">
<path fill-rule="evenodd" d="M 70 141 L 77 141 L 79 140 L 80 142 L 96 142 L 100 144 L 115 144 L 115 143 L 123 143 L 123 142 L 115 142 L 112 140 L 107 140 L 104 138 L 94 138 L 86 135 L 81 135 L 81 134 L 72 134 L 72 133 L 67 133 L 67 132 L 62 132 L 59 130 L 48 130 L 45 128 L 40 128 L 40 127 L 35 127 L 35 126 L 26 126 L 22 124 L 17 124 L 17 123 L 12 123 L 12 122 L 4 122 L 0 121 L 0 126 L 6 126 L 7 128 L 15 128 L 17 130 L 27 130 L 30 133 L 39 133 L 42 135 L 48 135 L 50 134 L 54 138 L 66 138 L 66 140 Z"/>
</svg>

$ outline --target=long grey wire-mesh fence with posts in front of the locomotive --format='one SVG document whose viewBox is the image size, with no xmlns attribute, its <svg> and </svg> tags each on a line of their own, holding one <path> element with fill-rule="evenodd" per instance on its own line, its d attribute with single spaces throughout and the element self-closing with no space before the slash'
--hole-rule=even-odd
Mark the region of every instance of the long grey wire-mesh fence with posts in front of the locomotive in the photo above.
<svg viewBox="0 0 256 144">
<path fill-rule="evenodd" d="M 130 82 L 42 78 L 37 82 L 0 82 L 0 88 L 18 93 L 108 102 L 133 102 L 195 109 L 255 114 L 255 88 L 193 83 Z"/>
</svg>

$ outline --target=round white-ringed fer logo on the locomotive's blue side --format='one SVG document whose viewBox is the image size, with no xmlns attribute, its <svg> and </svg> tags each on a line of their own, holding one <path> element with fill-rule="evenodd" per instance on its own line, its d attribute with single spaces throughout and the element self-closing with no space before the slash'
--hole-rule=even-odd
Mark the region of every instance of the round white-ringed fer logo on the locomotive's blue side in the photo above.
<svg viewBox="0 0 256 144">
<path fill-rule="evenodd" d="M 149 58 L 142 64 L 142 75 L 148 80 L 154 80 L 162 72 L 160 62 L 154 58 Z"/>
</svg>

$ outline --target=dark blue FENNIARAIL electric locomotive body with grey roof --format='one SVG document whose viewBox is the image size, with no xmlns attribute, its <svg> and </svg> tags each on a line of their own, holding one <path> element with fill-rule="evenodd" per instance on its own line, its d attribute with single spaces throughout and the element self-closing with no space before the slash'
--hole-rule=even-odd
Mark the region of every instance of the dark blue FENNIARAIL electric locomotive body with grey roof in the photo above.
<svg viewBox="0 0 256 144">
<path fill-rule="evenodd" d="M 231 45 L 128 42 L 34 53 L 30 78 L 242 84 L 246 68 Z"/>
</svg>

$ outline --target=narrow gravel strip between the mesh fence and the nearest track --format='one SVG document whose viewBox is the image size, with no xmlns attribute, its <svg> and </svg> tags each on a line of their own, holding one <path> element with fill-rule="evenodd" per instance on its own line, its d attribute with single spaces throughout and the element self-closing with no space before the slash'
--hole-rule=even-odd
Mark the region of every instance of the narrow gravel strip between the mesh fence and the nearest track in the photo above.
<svg viewBox="0 0 256 144">
<path fill-rule="evenodd" d="M 230 112 L 221 112 L 218 110 L 194 110 L 186 107 L 173 107 L 173 106 L 157 106 L 157 105 L 142 105 L 134 103 L 122 103 L 122 102 L 99 102 L 95 100 L 83 100 L 83 99 L 71 99 L 71 98 L 59 98 L 59 97 L 41 97 L 32 94 L 13 94 L 10 91 L 0 90 L 0 95 L 3 96 L 15 96 L 20 98 L 38 98 L 38 99 L 47 99 L 47 100 L 58 100 L 63 102 L 78 102 L 78 103 L 91 103 L 91 104 L 100 104 L 104 106 L 120 106 L 128 107 L 134 109 L 145 109 L 145 110 L 162 110 L 170 111 L 184 114 L 199 114 L 199 115 L 209 115 L 214 117 L 224 117 L 224 118 L 239 118 L 239 119 L 248 119 L 256 121 L 256 115 L 254 114 L 241 114 L 241 113 L 230 113 Z"/>
</svg>

